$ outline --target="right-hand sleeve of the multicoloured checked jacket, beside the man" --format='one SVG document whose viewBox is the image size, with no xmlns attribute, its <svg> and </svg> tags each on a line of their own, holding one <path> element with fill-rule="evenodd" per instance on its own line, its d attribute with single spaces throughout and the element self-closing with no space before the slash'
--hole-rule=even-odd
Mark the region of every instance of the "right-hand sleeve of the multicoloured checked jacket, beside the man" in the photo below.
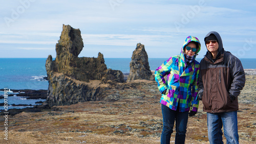
<svg viewBox="0 0 256 144">
<path fill-rule="evenodd" d="M 190 111 L 196 111 L 198 110 L 198 105 L 199 105 L 199 99 L 198 99 L 198 91 L 199 91 L 199 73 L 200 73 L 200 68 L 197 68 L 195 71 L 196 74 L 196 79 L 192 85 L 192 98 L 191 98 L 191 106 L 190 106 Z"/>
</svg>

